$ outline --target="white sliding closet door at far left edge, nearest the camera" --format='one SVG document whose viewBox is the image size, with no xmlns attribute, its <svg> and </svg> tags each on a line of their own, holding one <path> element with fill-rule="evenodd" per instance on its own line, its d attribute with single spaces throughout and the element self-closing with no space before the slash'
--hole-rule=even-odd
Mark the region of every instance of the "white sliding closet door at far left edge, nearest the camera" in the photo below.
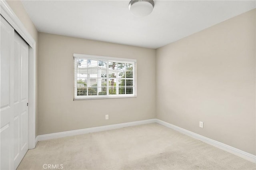
<svg viewBox="0 0 256 170">
<path fill-rule="evenodd" d="M 14 29 L 2 16 L 0 21 L 0 168 L 7 170 L 14 169 Z"/>
</svg>

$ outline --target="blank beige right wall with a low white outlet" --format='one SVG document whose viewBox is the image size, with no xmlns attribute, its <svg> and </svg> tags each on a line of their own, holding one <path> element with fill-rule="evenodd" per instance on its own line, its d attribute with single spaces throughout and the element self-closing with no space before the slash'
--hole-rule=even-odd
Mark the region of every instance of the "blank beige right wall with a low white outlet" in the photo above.
<svg viewBox="0 0 256 170">
<path fill-rule="evenodd" d="M 255 16 L 157 49 L 158 119 L 255 155 Z"/>
</svg>

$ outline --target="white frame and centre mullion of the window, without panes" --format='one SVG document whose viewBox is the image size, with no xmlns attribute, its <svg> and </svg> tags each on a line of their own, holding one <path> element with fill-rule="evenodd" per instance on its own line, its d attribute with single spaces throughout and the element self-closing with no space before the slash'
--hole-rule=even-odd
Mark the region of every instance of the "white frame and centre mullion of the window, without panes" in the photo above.
<svg viewBox="0 0 256 170">
<path fill-rule="evenodd" d="M 106 86 L 106 95 L 98 95 L 98 90 L 97 90 L 97 96 L 78 96 L 77 95 L 77 70 L 76 70 L 76 64 L 77 64 L 77 58 L 79 59 L 90 59 L 90 60 L 102 60 L 102 61 L 107 61 L 110 62 L 122 62 L 122 63 L 128 63 L 128 64 L 133 64 L 133 94 L 117 94 L 117 95 L 109 95 L 108 90 L 109 90 L 109 75 L 108 75 L 108 64 L 106 66 L 106 79 L 107 79 L 107 86 Z M 120 58 L 120 57 L 107 57 L 107 56 L 100 56 L 100 55 L 88 55 L 88 54 L 78 54 L 78 53 L 73 53 L 73 67 L 74 67 L 74 83 L 73 83 L 73 100 L 78 101 L 78 100 L 93 100 L 93 99 L 116 99 L 116 98 L 135 98 L 137 97 L 137 71 L 136 71 L 136 65 L 137 65 L 137 59 L 129 59 L 129 58 Z M 117 82 L 118 83 L 118 82 Z M 125 86 L 127 87 L 127 86 Z M 87 86 L 88 88 L 88 86 Z M 117 88 L 116 88 L 117 89 Z"/>
</svg>

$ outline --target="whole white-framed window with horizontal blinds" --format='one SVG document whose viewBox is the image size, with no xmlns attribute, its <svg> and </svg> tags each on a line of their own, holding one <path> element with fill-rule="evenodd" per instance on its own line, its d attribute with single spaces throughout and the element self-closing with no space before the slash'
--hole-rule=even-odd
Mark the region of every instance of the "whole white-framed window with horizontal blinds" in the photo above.
<svg viewBox="0 0 256 170">
<path fill-rule="evenodd" d="M 74 53 L 74 100 L 136 97 L 136 59 Z"/>
</svg>

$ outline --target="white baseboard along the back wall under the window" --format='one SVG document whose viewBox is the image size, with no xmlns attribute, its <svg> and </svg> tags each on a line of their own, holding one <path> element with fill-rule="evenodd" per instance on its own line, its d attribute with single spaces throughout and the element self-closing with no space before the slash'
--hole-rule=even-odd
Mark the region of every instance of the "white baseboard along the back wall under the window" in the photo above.
<svg viewBox="0 0 256 170">
<path fill-rule="evenodd" d="M 102 127 L 92 127 L 92 128 L 78 129 L 78 130 L 70 130 L 70 131 L 66 131 L 66 132 L 42 134 L 42 135 L 38 135 L 36 138 L 38 141 L 42 141 L 42 140 L 63 138 L 63 137 L 67 137 L 67 136 L 74 136 L 74 135 L 86 134 L 86 133 L 92 133 L 92 132 L 100 132 L 100 131 L 104 131 L 104 130 L 111 130 L 111 129 L 116 129 L 116 128 L 143 125 L 143 124 L 155 123 L 155 122 L 156 122 L 156 119 L 148 119 L 148 120 L 144 120 L 144 121 L 120 123 L 120 124 L 115 124 L 115 125 L 106 125 L 106 126 L 102 126 Z"/>
</svg>

